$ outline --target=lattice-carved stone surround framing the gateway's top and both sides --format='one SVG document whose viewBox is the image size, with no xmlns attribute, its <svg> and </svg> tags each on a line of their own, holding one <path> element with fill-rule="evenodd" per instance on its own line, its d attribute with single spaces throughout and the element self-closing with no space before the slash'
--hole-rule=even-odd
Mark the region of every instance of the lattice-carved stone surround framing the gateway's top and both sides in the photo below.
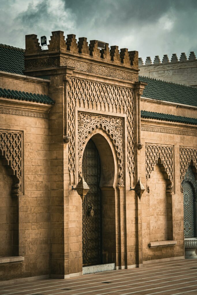
<svg viewBox="0 0 197 295">
<path fill-rule="evenodd" d="M 133 89 L 72 77 L 68 82 L 69 177 L 75 184 L 76 142 L 75 107 L 127 115 L 128 174 L 134 175 L 134 112 Z"/>
</svg>

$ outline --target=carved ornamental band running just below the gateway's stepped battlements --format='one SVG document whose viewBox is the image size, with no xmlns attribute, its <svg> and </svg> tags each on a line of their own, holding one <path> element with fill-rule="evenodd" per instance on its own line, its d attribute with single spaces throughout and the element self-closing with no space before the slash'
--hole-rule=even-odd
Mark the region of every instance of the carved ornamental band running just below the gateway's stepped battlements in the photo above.
<svg viewBox="0 0 197 295">
<path fill-rule="evenodd" d="M 130 80 L 138 82 L 138 72 L 126 70 L 118 66 L 105 66 L 100 62 L 94 60 L 94 63 L 90 63 L 85 59 L 69 58 L 69 55 L 59 57 L 35 57 L 25 60 L 25 69 L 35 69 L 44 67 L 59 67 L 59 66 L 71 66 L 80 71 L 89 73 L 95 73 L 102 76 L 109 76 L 118 79 Z"/>
</svg>

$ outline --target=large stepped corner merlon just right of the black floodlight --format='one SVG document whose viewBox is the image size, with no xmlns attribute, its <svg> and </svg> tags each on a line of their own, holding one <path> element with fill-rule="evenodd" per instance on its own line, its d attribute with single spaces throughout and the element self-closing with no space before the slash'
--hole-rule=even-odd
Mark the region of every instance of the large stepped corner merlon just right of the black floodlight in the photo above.
<svg viewBox="0 0 197 295">
<path fill-rule="evenodd" d="M 61 51 L 66 50 L 66 41 L 63 31 L 52 32 L 51 40 L 48 45 L 49 51 Z"/>
</svg>

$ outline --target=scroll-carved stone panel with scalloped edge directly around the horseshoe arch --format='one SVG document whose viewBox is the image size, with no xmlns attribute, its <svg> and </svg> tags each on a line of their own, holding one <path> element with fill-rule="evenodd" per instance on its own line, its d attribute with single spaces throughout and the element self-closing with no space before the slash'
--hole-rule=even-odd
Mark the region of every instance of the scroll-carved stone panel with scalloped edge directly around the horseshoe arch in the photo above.
<svg viewBox="0 0 197 295">
<path fill-rule="evenodd" d="M 86 139 L 94 130 L 102 128 L 111 138 L 118 157 L 118 184 L 124 185 L 123 168 L 123 119 L 78 112 L 78 171 L 82 176 L 82 157 Z"/>
</svg>

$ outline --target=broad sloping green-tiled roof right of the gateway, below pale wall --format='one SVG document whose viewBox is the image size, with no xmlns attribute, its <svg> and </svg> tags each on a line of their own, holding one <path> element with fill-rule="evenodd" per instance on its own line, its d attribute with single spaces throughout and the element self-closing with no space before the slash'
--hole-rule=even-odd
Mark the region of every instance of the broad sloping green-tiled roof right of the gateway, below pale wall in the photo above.
<svg viewBox="0 0 197 295">
<path fill-rule="evenodd" d="M 148 83 L 142 97 L 197 106 L 197 87 L 144 76 L 139 76 L 139 81 Z"/>
</svg>

